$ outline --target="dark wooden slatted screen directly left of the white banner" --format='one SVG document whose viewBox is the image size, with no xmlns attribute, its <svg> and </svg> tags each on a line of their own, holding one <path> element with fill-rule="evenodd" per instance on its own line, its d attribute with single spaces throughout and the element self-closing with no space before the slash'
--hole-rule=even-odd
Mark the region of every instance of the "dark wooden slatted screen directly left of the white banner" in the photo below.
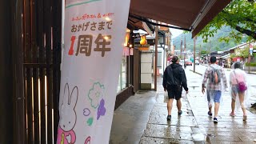
<svg viewBox="0 0 256 144">
<path fill-rule="evenodd" d="M 23 0 L 25 143 L 55 143 L 58 130 L 62 1 Z"/>
</svg>

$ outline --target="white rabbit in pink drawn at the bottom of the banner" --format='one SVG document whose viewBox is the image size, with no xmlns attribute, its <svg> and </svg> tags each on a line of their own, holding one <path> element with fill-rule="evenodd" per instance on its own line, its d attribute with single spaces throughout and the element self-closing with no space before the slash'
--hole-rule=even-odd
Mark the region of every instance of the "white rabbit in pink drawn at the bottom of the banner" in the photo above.
<svg viewBox="0 0 256 144">
<path fill-rule="evenodd" d="M 58 144 L 70 144 L 76 140 L 74 126 L 77 122 L 77 114 L 74 110 L 78 101 L 78 86 L 74 86 L 70 94 L 69 84 L 66 83 L 64 95 L 60 105 L 60 120 L 58 124 Z"/>
</svg>

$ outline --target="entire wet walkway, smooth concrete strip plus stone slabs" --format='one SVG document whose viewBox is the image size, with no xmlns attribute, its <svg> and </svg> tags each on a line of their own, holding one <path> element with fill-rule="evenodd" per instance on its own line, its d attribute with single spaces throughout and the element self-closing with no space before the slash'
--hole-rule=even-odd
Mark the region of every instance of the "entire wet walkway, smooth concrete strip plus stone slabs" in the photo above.
<svg viewBox="0 0 256 144">
<path fill-rule="evenodd" d="M 182 116 L 178 116 L 174 105 L 172 119 L 166 121 L 166 103 L 163 103 L 164 91 L 159 78 L 157 94 L 154 91 L 136 94 L 115 111 L 110 143 L 256 143 L 256 114 L 247 111 L 246 122 L 242 121 L 241 111 L 230 117 L 230 97 L 226 95 L 218 124 L 214 124 L 207 116 L 206 98 L 198 87 L 202 76 L 190 70 L 186 74 L 190 94 L 183 94 Z"/>
</svg>

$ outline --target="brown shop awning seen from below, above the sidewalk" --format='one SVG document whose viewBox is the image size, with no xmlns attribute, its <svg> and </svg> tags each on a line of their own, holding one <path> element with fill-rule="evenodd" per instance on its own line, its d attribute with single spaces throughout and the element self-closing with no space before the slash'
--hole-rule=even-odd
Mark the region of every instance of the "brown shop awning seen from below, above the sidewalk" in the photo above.
<svg viewBox="0 0 256 144">
<path fill-rule="evenodd" d="M 130 14 L 200 32 L 231 0 L 131 0 Z"/>
</svg>

